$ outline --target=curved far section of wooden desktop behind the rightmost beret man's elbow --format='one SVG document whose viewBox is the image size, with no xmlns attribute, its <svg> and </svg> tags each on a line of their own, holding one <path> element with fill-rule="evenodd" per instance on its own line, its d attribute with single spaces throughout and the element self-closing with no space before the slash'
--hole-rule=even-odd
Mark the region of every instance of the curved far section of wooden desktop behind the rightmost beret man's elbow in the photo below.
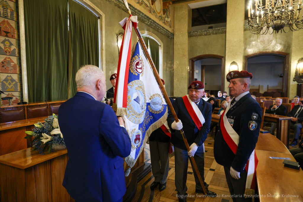
<svg viewBox="0 0 303 202">
<path fill-rule="evenodd" d="M 263 131 L 261 129 L 261 131 Z M 272 151 L 290 154 L 286 146 L 270 133 L 260 133 L 255 150 Z"/>
</svg>

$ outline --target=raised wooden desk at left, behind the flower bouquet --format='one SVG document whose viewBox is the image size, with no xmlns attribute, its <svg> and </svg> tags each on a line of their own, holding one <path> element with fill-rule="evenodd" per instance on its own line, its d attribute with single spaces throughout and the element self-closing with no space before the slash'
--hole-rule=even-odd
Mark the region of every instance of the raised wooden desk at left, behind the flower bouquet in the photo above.
<svg viewBox="0 0 303 202">
<path fill-rule="evenodd" d="M 31 147 L 32 138 L 25 131 L 32 131 L 34 124 L 44 122 L 46 117 L 25 119 L 0 124 L 0 156 Z"/>
</svg>

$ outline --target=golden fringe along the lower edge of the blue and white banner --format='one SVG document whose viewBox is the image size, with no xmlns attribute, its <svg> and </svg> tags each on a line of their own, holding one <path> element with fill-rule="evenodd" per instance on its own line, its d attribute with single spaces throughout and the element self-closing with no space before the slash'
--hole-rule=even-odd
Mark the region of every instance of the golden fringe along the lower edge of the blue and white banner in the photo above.
<svg viewBox="0 0 303 202">
<path fill-rule="evenodd" d="M 127 164 L 130 168 L 132 168 L 132 167 L 135 165 L 135 163 L 136 163 L 138 157 L 140 156 L 140 154 L 141 154 L 143 148 L 145 147 L 145 143 L 146 143 L 146 141 L 147 141 L 147 138 L 151 135 L 151 133 L 152 133 L 153 131 L 157 130 L 159 127 L 161 127 L 161 125 L 163 125 L 163 124 L 165 123 L 165 121 L 166 121 L 166 119 L 167 119 L 167 111 L 168 111 L 168 109 L 167 109 L 167 107 L 166 107 L 165 114 L 164 114 L 158 121 L 156 121 L 155 123 L 151 124 L 151 126 L 150 126 L 150 127 L 147 129 L 147 131 L 145 132 L 145 137 L 144 137 L 144 140 L 143 140 L 143 144 L 142 144 L 142 147 L 140 148 L 140 151 L 139 151 L 139 154 L 138 154 L 137 158 L 134 160 L 134 159 L 132 159 L 131 156 L 128 156 L 128 157 L 126 157 L 126 158 L 124 159 L 125 162 L 126 162 L 126 164 Z M 117 116 L 118 116 L 118 114 L 117 114 Z M 127 174 L 127 175 L 126 175 L 126 174 Z M 125 172 L 125 177 L 127 177 L 128 174 L 129 174 L 129 172 L 128 172 L 128 170 L 127 170 L 127 171 Z"/>
</svg>

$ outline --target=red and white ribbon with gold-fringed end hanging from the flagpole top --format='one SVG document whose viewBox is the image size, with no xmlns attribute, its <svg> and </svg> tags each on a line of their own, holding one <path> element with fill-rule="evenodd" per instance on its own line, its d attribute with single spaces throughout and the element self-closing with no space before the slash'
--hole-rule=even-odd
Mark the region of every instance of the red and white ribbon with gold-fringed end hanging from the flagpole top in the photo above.
<svg viewBox="0 0 303 202">
<path fill-rule="evenodd" d="M 137 16 L 130 15 L 129 18 L 124 18 L 119 24 L 124 29 L 124 35 L 120 48 L 117 82 L 114 94 L 114 103 L 117 105 L 117 116 L 127 114 L 127 79 L 132 54 L 132 26 L 137 27 Z"/>
</svg>

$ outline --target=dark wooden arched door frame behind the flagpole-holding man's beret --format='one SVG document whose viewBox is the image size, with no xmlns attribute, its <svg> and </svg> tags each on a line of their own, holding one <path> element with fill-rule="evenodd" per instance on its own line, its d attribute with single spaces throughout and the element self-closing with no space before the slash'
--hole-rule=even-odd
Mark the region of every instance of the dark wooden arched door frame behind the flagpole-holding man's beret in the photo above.
<svg viewBox="0 0 303 202">
<path fill-rule="evenodd" d="M 222 60 L 221 65 L 221 91 L 224 91 L 224 83 L 225 83 L 225 57 L 221 55 L 198 55 L 196 57 L 189 59 L 189 77 L 188 77 L 188 85 L 195 79 L 195 61 L 206 59 L 206 58 L 216 58 Z"/>
</svg>

